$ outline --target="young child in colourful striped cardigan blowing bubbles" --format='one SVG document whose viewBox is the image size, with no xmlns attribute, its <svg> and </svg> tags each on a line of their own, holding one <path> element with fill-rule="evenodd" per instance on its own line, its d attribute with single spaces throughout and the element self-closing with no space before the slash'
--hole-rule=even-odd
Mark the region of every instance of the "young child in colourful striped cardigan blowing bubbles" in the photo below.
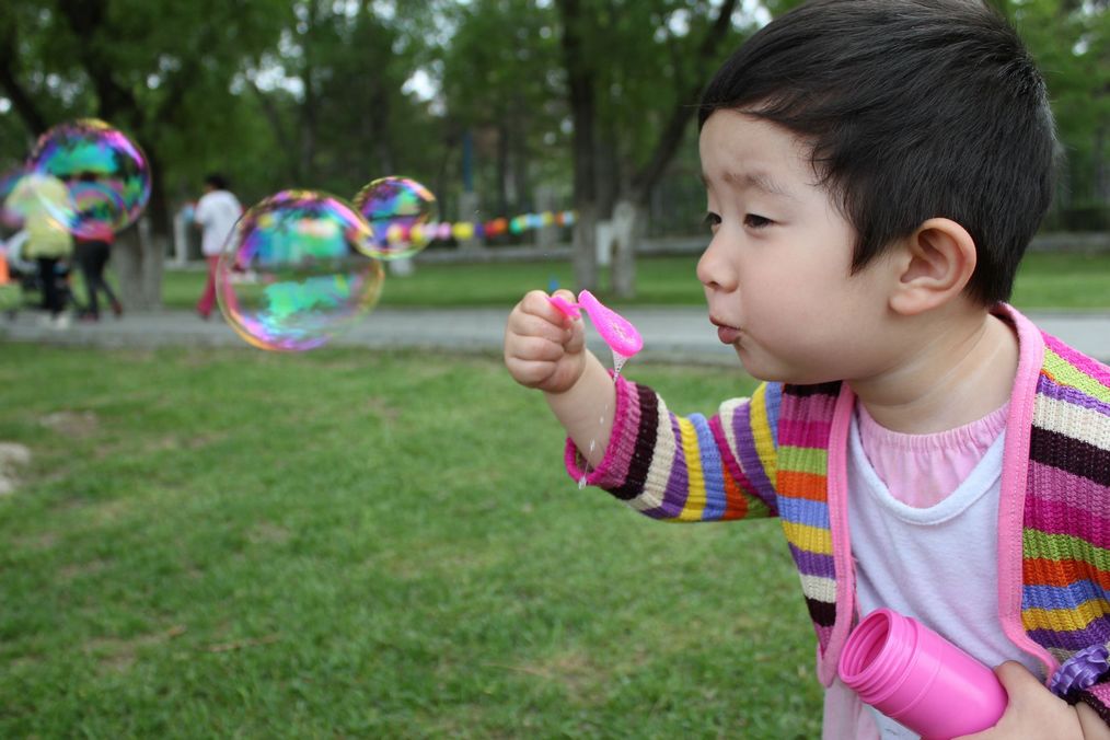
<svg viewBox="0 0 1110 740">
<path fill-rule="evenodd" d="M 975 737 L 1110 737 L 1110 368 L 1005 303 L 1056 146 L 1018 37 L 973 0 L 810 2 L 724 64 L 699 124 L 697 277 L 765 383 L 676 416 L 528 293 L 505 363 L 571 475 L 659 519 L 779 517 L 826 738 L 911 737 L 836 675 L 882 606 L 998 667 L 1009 706 Z"/>
</svg>

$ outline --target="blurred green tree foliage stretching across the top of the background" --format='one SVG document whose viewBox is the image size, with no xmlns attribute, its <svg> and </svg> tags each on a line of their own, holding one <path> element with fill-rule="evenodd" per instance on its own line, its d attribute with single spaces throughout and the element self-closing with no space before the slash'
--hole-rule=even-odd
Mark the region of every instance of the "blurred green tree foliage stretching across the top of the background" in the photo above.
<svg viewBox="0 0 1110 740">
<path fill-rule="evenodd" d="M 709 69 L 794 4 L 737 3 Z M 1107 3 L 996 4 L 1052 90 L 1069 155 L 1056 223 L 1104 226 Z M 704 81 L 697 49 L 720 6 L 9 0 L 0 9 L 0 165 L 17 163 L 46 126 L 93 114 L 132 132 L 155 161 L 155 231 L 168 229 L 168 206 L 195 197 L 209 170 L 229 173 L 248 203 L 294 185 L 353 195 L 374 176 L 405 173 L 436 191 L 446 217 L 462 215 L 455 196 L 468 182 L 488 215 L 527 211 L 543 189 L 566 205 L 573 124 L 559 44 L 574 23 L 595 97 L 604 214 L 652 156 L 684 85 Z M 694 154 L 683 146 L 653 185 L 694 193 L 675 204 L 689 213 L 668 214 L 672 229 L 692 229 L 700 207 Z M 672 180 L 690 182 L 676 189 Z"/>
</svg>

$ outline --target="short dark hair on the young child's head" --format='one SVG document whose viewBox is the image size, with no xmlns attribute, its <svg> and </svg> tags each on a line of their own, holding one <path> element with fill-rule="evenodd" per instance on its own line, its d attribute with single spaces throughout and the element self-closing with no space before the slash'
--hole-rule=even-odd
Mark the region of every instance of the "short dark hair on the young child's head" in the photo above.
<svg viewBox="0 0 1110 740">
<path fill-rule="evenodd" d="M 1056 135 L 1021 40 L 978 0 L 816 0 L 751 37 L 717 71 L 719 109 L 813 148 L 855 226 L 852 270 L 944 216 L 978 251 L 969 295 L 1005 301 L 1052 196 Z"/>
</svg>

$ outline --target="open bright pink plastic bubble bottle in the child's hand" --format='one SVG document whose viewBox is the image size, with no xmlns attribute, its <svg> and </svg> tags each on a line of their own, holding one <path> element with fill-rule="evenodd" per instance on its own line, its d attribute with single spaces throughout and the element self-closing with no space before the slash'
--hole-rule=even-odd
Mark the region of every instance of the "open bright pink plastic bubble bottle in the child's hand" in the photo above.
<svg viewBox="0 0 1110 740">
<path fill-rule="evenodd" d="M 1006 711 L 1006 690 L 992 670 L 890 609 L 859 622 L 837 670 L 860 699 L 929 740 L 981 732 Z"/>
</svg>

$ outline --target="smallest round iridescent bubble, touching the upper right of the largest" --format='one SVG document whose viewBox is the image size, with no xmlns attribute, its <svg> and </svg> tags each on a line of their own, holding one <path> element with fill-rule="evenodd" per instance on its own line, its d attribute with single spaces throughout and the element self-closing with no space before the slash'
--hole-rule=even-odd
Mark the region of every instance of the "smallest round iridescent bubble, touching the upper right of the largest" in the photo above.
<svg viewBox="0 0 1110 740">
<path fill-rule="evenodd" d="M 370 223 L 365 251 L 380 260 L 410 257 L 435 237 L 424 225 L 435 220 L 435 195 L 408 178 L 380 178 L 359 191 L 359 213 Z"/>
</svg>

